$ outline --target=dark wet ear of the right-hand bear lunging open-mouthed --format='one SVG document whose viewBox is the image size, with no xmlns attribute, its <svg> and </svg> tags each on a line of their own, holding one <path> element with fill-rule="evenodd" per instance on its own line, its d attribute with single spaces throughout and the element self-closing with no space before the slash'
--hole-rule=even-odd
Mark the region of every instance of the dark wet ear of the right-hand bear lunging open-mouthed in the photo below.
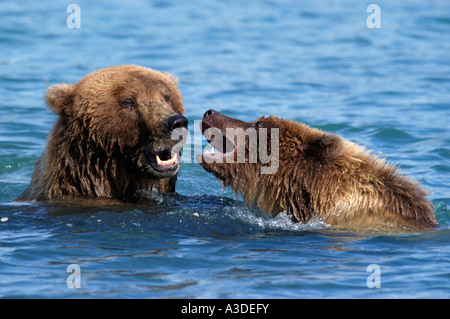
<svg viewBox="0 0 450 319">
<path fill-rule="evenodd" d="M 332 160 L 342 154 L 342 138 L 335 134 L 324 134 L 311 141 L 305 152 L 317 160 Z"/>
</svg>

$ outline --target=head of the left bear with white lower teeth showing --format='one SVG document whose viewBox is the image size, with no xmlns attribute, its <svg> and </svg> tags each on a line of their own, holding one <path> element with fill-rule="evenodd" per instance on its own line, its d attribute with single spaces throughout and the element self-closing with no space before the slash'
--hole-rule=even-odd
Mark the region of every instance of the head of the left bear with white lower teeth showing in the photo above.
<svg viewBox="0 0 450 319">
<path fill-rule="evenodd" d="M 178 173 L 180 136 L 173 136 L 187 128 L 187 119 L 181 115 L 184 106 L 173 75 L 115 66 L 93 72 L 77 84 L 51 86 L 46 101 L 63 119 L 66 134 L 85 139 L 75 143 L 94 143 L 93 149 L 100 148 L 107 156 L 126 157 L 150 177 Z"/>
</svg>

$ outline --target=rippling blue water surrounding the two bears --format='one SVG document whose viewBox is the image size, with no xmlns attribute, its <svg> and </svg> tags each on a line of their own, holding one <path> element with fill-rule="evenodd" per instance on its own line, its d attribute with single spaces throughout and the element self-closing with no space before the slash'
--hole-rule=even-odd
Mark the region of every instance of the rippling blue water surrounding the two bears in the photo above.
<svg viewBox="0 0 450 319">
<path fill-rule="evenodd" d="M 450 2 L 377 0 L 370 29 L 368 1 L 76 0 L 69 29 L 73 2 L 0 2 L 0 297 L 450 297 Z M 187 160 L 154 207 L 10 204 L 56 119 L 45 89 L 117 64 L 177 75 L 191 136 L 214 108 L 365 145 L 431 191 L 441 227 L 362 235 L 265 219 Z"/>
</svg>

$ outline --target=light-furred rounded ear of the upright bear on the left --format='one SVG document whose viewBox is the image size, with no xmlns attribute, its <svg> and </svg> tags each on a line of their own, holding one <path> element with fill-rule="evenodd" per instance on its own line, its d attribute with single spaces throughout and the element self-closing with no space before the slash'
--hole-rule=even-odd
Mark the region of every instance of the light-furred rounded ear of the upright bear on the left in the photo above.
<svg viewBox="0 0 450 319">
<path fill-rule="evenodd" d="M 56 114 L 63 114 L 68 111 L 75 97 L 75 84 L 55 84 L 45 92 L 45 100 L 48 107 Z"/>
</svg>

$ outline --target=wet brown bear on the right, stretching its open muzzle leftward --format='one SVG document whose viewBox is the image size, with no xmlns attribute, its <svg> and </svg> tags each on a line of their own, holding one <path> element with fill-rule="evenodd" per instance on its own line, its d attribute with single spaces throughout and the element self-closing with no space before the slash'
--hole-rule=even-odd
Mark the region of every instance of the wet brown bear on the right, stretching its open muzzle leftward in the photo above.
<svg viewBox="0 0 450 319">
<path fill-rule="evenodd" d="M 197 161 L 264 213 L 284 211 L 301 223 L 316 217 L 353 230 L 437 225 L 433 206 L 417 183 L 338 135 L 275 116 L 243 122 L 214 110 L 205 113 L 201 126 L 214 149 Z M 239 154 L 241 146 L 245 152 Z"/>
</svg>

